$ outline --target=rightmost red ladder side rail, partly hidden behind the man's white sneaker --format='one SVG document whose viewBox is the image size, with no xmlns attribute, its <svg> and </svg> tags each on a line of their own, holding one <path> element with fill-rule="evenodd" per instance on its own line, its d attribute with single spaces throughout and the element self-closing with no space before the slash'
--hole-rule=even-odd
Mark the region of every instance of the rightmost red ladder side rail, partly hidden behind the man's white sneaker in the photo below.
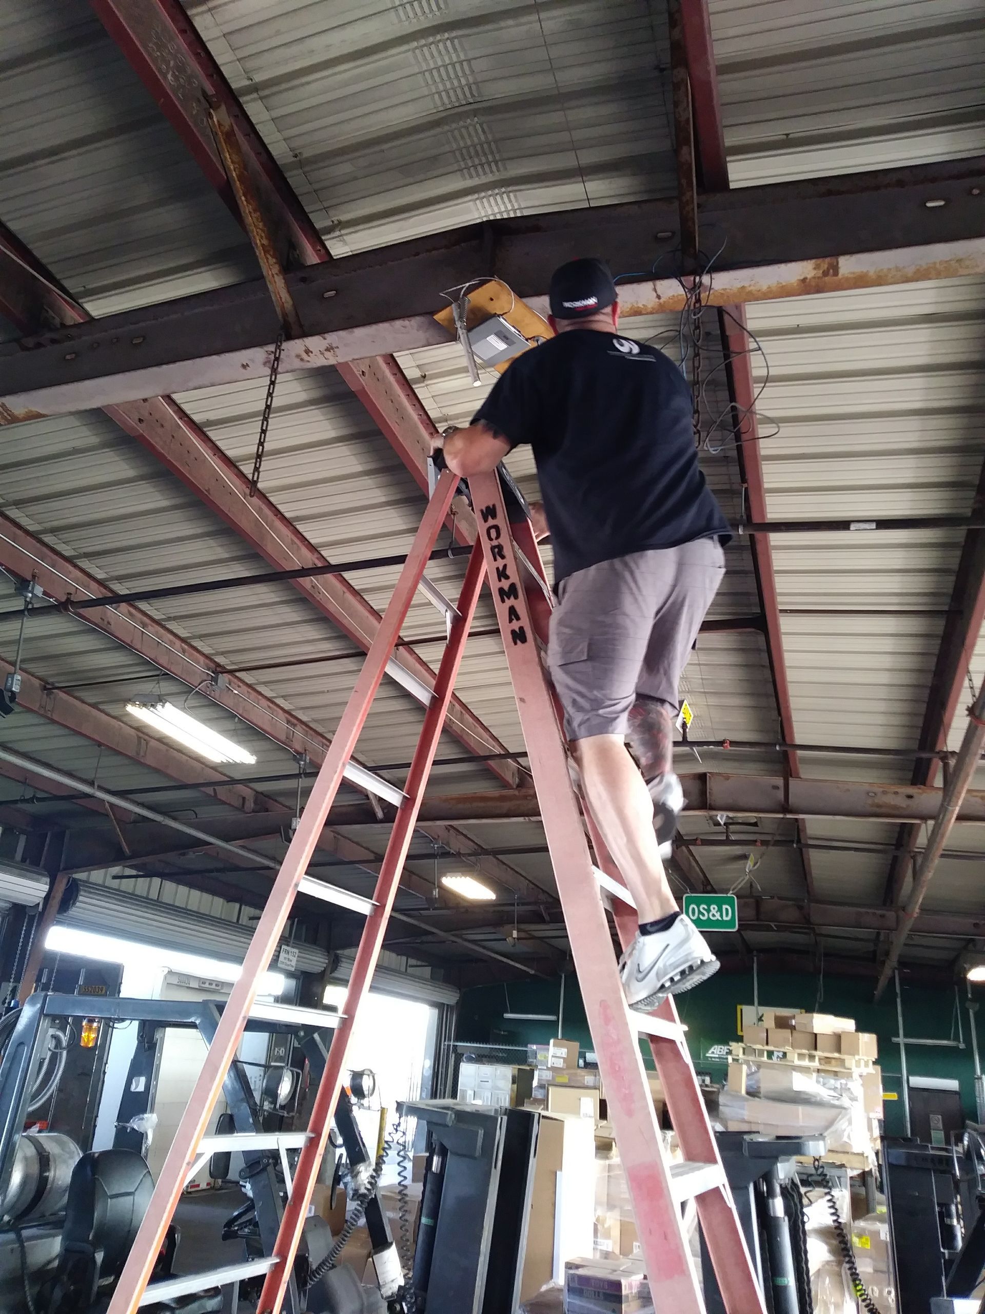
<svg viewBox="0 0 985 1314">
<path fill-rule="evenodd" d="M 587 807 L 584 808 L 584 819 L 599 866 L 620 884 L 624 884 L 619 867 L 612 861 Z M 619 942 L 623 949 L 626 949 L 637 929 L 636 911 L 621 899 L 613 899 L 612 903 L 612 917 L 616 922 Z M 665 999 L 654 1009 L 653 1016 L 680 1025 L 672 996 Z M 713 1163 L 722 1169 L 718 1141 L 708 1118 L 697 1074 L 683 1033 L 679 1041 L 651 1037 L 650 1051 L 663 1087 L 670 1121 L 678 1134 L 684 1159 L 693 1163 Z M 724 1169 L 722 1184 L 713 1190 L 704 1190 L 695 1196 L 695 1206 L 725 1309 L 729 1314 L 766 1314 L 763 1293 L 755 1276 L 745 1233 L 735 1213 L 732 1187 Z"/>
</svg>

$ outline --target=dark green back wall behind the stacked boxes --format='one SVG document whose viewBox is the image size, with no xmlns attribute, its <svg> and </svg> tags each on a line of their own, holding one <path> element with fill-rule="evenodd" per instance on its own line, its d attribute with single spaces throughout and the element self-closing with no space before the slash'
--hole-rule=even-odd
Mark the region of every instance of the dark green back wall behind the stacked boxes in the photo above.
<svg viewBox="0 0 985 1314">
<path fill-rule="evenodd" d="M 809 972 L 802 976 L 759 975 L 759 1004 L 762 1008 L 804 1008 L 809 1012 L 834 1013 L 854 1017 L 860 1031 L 875 1031 L 879 1037 L 883 1088 L 901 1095 L 900 1047 L 892 1037 L 898 1034 L 896 1024 L 896 995 L 890 986 L 879 1004 L 872 1003 L 873 984 L 867 980 L 830 979 L 823 982 L 818 999 L 818 982 Z M 964 987 L 961 987 L 964 991 Z M 985 993 L 972 987 L 973 999 Z M 504 987 L 479 986 L 464 991 L 458 1008 L 457 1039 L 475 1043 L 527 1045 L 549 1041 L 558 1035 L 553 1022 L 506 1021 L 503 1013 L 558 1013 L 561 978 L 553 980 L 521 982 Z M 725 1063 L 707 1058 L 709 1046 L 738 1039 L 738 1004 L 753 1003 L 751 974 L 720 972 L 705 986 L 682 995 L 678 1004 L 680 1018 L 688 1028 L 688 1045 L 695 1066 L 709 1071 L 721 1081 Z M 922 986 L 902 988 L 904 1028 L 908 1037 L 927 1039 L 956 1039 L 955 992 L 930 989 Z M 974 1118 L 974 1063 L 972 1059 L 969 1017 L 961 999 L 961 1030 L 964 1050 L 932 1049 L 908 1045 L 906 1062 L 910 1076 L 951 1077 L 961 1083 L 961 1101 L 965 1117 Z M 981 1029 L 978 1037 L 981 1043 Z M 565 978 L 563 1037 L 588 1046 L 588 1026 L 584 1007 L 574 975 Z M 644 1047 L 644 1056 L 650 1054 Z M 985 1050 L 982 1051 L 985 1060 Z M 897 1100 L 885 1101 L 885 1129 L 889 1135 L 902 1135 L 902 1105 Z"/>
</svg>

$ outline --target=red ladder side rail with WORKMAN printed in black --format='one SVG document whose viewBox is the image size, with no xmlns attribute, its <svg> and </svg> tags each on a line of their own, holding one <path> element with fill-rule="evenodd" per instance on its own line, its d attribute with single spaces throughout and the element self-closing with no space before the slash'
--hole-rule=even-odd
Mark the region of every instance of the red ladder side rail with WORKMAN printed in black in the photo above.
<svg viewBox="0 0 985 1314">
<path fill-rule="evenodd" d="M 571 953 L 579 979 L 595 987 L 584 995 L 586 1014 L 611 1092 L 609 1117 L 623 1154 L 644 1257 L 657 1279 L 651 1282 L 654 1305 L 658 1314 L 703 1314 L 638 1038 L 623 999 L 563 742 L 533 643 L 531 611 L 519 586 L 499 481 L 495 474 L 474 476 L 469 486 L 531 770 L 538 796 L 549 800 L 542 807 L 544 829 Z"/>
</svg>

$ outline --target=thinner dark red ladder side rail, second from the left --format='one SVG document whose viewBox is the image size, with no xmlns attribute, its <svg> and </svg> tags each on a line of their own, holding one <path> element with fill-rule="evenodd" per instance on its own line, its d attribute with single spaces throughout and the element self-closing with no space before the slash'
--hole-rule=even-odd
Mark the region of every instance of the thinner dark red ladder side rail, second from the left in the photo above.
<svg viewBox="0 0 985 1314">
<path fill-rule="evenodd" d="M 335 1112 L 341 1089 L 341 1074 L 345 1067 L 345 1056 L 359 1014 L 359 1005 L 369 991 L 369 984 L 380 958 L 380 950 L 383 945 L 390 912 L 399 888 L 401 872 L 403 871 L 407 850 L 414 837 L 414 828 L 424 798 L 431 763 L 437 752 L 445 714 L 452 702 L 454 681 L 465 654 L 465 641 L 469 636 L 485 578 L 486 570 L 482 552 L 479 548 L 473 548 L 458 597 L 458 615 L 452 623 L 448 645 L 437 669 L 435 696 L 424 714 L 420 738 L 418 740 L 410 773 L 403 787 L 406 798 L 397 812 L 397 820 L 390 833 L 390 841 L 373 892 L 376 907 L 370 912 L 360 938 L 345 992 L 343 1018 L 332 1037 L 324 1071 L 322 1072 L 318 1092 L 311 1105 L 309 1120 L 311 1137 L 301 1151 L 294 1172 L 294 1187 L 284 1210 L 277 1236 L 277 1264 L 268 1272 L 263 1292 L 260 1293 L 257 1310 L 268 1311 L 268 1314 L 273 1310 L 280 1310 L 290 1280 L 294 1255 L 301 1240 L 311 1194 L 318 1180 L 322 1155 L 328 1141 L 332 1113 Z"/>
</svg>

